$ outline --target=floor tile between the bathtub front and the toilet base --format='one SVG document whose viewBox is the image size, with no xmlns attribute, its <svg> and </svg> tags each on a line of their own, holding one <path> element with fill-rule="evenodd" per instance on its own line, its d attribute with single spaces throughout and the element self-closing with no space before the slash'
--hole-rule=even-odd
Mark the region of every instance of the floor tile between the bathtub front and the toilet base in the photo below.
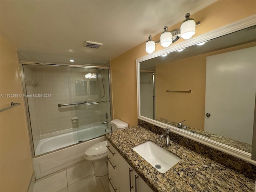
<svg viewBox="0 0 256 192">
<path fill-rule="evenodd" d="M 67 167 L 68 186 L 94 173 L 94 166 L 90 161 L 82 161 Z"/>
</svg>

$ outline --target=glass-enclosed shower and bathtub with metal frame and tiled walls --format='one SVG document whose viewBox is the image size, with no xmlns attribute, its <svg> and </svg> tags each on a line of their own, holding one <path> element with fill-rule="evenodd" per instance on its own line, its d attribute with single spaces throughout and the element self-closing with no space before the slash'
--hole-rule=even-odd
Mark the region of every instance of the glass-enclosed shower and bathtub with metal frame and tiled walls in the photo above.
<svg viewBox="0 0 256 192">
<path fill-rule="evenodd" d="M 112 131 L 108 67 L 20 64 L 34 157 Z"/>
</svg>

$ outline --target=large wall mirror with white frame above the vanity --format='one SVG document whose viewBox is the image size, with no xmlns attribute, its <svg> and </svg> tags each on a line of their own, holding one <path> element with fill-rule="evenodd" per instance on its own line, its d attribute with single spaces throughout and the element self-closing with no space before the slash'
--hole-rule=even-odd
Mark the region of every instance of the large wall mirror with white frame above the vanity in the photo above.
<svg viewBox="0 0 256 192">
<path fill-rule="evenodd" d="M 256 22 L 239 21 L 172 46 L 137 60 L 138 118 L 248 160 L 255 126 Z"/>
</svg>

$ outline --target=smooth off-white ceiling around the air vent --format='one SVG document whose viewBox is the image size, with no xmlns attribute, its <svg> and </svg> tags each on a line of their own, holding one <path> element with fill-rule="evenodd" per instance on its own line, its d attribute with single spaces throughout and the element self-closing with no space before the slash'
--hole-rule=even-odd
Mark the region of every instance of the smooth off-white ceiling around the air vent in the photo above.
<svg viewBox="0 0 256 192">
<path fill-rule="evenodd" d="M 1 0 L 0 33 L 22 59 L 102 65 L 214 1 Z"/>
</svg>

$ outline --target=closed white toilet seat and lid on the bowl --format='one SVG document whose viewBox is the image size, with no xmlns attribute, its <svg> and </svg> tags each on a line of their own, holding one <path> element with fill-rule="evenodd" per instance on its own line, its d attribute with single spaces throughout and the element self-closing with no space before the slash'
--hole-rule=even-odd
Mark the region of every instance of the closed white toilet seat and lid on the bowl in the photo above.
<svg viewBox="0 0 256 192">
<path fill-rule="evenodd" d="M 84 156 L 88 158 L 90 158 L 90 160 L 94 160 L 94 159 L 99 159 L 99 158 L 104 158 L 107 156 L 107 141 L 102 141 L 99 143 L 96 143 L 92 146 L 90 146 L 85 152 L 84 152 Z"/>
</svg>

